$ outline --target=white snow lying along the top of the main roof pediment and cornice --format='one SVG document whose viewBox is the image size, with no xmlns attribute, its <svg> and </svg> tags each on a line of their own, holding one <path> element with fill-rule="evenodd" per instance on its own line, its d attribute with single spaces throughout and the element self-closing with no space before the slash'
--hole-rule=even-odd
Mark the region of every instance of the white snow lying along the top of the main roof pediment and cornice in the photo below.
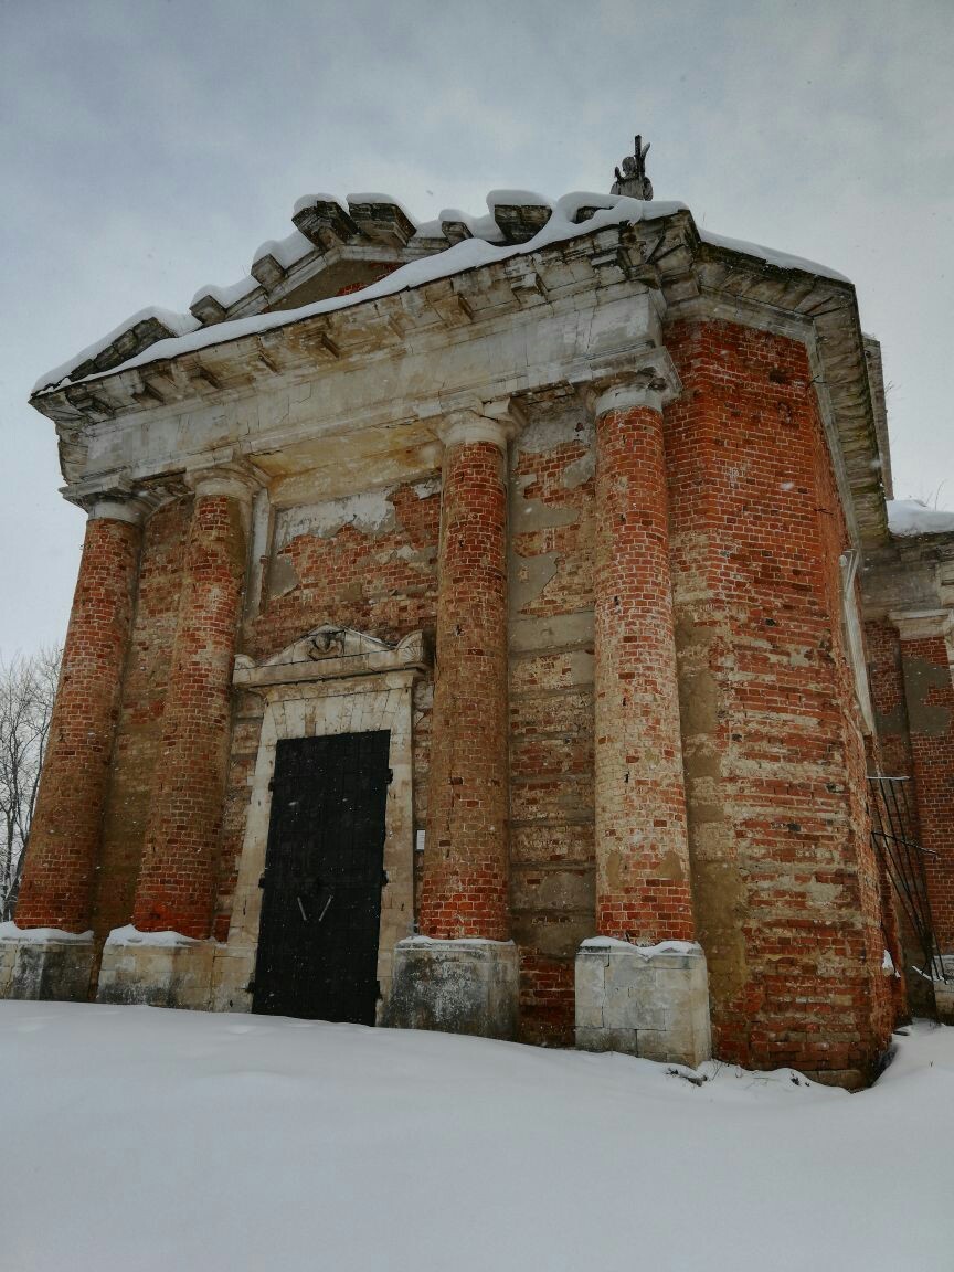
<svg viewBox="0 0 954 1272">
<path fill-rule="evenodd" d="M 305 196 L 295 204 L 295 210 L 300 211 L 303 207 L 310 206 L 315 200 L 321 201 L 326 198 L 331 201 L 331 196 Z M 349 195 L 347 201 L 349 205 L 357 205 L 363 201 L 388 204 L 396 202 L 387 195 Z M 402 212 L 404 212 L 408 221 L 417 226 L 416 238 L 443 237 L 441 226 L 446 228 L 452 224 L 462 225 L 471 237 L 463 238 L 460 242 L 454 243 L 444 251 L 411 261 L 394 270 L 385 279 L 382 279 L 364 289 L 347 295 L 329 296 L 324 300 L 314 301 L 299 309 L 252 314 L 244 318 L 218 322 L 211 326 L 202 326 L 195 317 L 192 317 L 192 314 L 177 314 L 164 309 L 142 309 L 132 318 L 121 323 L 102 340 L 88 346 L 88 349 L 83 350 L 83 352 L 78 356 L 57 368 L 53 368 L 53 370 L 47 371 L 45 375 L 41 375 L 33 385 L 33 394 L 36 396 L 39 393 L 53 392 L 55 389 L 62 387 L 65 380 L 71 380 L 71 383 L 78 384 L 85 380 L 102 379 L 106 375 L 112 375 L 136 366 L 144 366 L 149 363 L 177 357 L 181 354 L 195 352 L 215 345 L 224 345 L 259 332 L 273 331 L 275 328 L 300 322 L 303 318 L 333 313 L 335 310 L 361 304 L 365 300 L 394 295 L 399 291 L 406 291 L 418 287 L 426 282 L 432 282 L 436 279 L 450 277 L 452 275 L 463 273 L 464 271 L 473 270 L 483 265 L 505 261 L 515 256 L 527 256 L 552 244 L 591 234 L 594 230 L 603 229 L 605 226 L 658 220 L 665 216 L 672 216 L 678 211 L 688 211 L 687 205 L 682 202 L 661 200 L 644 202 L 622 195 L 605 195 L 602 192 L 577 191 L 570 195 L 563 195 L 562 198 L 556 201 L 551 201 L 533 191 L 494 190 L 487 196 L 488 212 L 482 216 L 469 216 L 457 209 L 445 209 L 436 220 L 417 225 L 413 218 L 411 218 L 411 215 L 401 207 L 399 204 L 397 204 L 397 206 Z M 527 209 L 529 212 L 533 210 L 547 209 L 548 219 L 546 224 L 543 224 L 542 228 L 525 242 L 508 243 L 501 233 L 500 224 L 495 219 L 496 210 L 501 207 L 518 210 Z M 585 219 L 577 220 L 579 216 L 584 216 Z M 719 234 L 712 234 L 709 230 L 701 230 L 700 238 L 702 242 L 709 243 L 712 247 L 726 248 L 733 252 L 756 257 L 778 268 L 798 268 L 813 275 L 833 279 L 840 282 L 848 281 L 843 275 L 837 273 L 833 270 L 828 270 L 813 261 L 789 256 L 784 252 L 776 252 L 771 248 L 759 247 L 754 243 L 724 238 Z M 303 259 L 312 249 L 313 244 L 309 239 L 299 230 L 295 230 L 285 239 L 268 240 L 267 243 L 263 243 L 256 252 L 253 268 L 266 256 L 272 256 L 282 267 L 287 267 Z M 258 280 L 249 275 L 229 286 L 201 287 L 193 296 L 192 303 L 195 304 L 202 295 L 211 295 L 223 305 L 223 309 L 228 309 L 244 296 L 251 295 L 258 286 Z M 134 328 L 137 323 L 141 323 L 144 319 L 155 319 L 165 327 L 167 331 L 169 331 L 170 337 L 148 343 L 146 347 L 131 352 L 131 356 L 107 369 L 93 370 L 76 378 L 75 380 L 71 379 L 76 370 L 83 368 L 85 363 L 89 363 L 97 355 L 103 354 L 111 345 L 118 342 L 131 331 L 131 328 Z M 122 352 L 122 349 L 120 352 Z"/>
</svg>

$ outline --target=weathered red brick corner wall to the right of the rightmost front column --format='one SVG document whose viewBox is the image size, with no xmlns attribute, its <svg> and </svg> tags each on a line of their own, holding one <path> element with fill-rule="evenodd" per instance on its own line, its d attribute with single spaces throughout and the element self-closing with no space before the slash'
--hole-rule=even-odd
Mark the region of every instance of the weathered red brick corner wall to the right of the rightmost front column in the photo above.
<svg viewBox="0 0 954 1272">
<path fill-rule="evenodd" d="M 804 347 L 668 332 L 687 800 L 716 1053 L 862 1075 L 889 1030 L 846 546 Z"/>
</svg>

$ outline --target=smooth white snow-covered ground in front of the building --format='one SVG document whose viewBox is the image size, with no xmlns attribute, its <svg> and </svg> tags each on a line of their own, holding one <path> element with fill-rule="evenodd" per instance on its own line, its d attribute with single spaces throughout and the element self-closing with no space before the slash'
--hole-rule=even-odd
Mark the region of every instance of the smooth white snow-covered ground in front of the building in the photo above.
<svg viewBox="0 0 954 1272">
<path fill-rule="evenodd" d="M 0 1002 L 18 1272 L 950 1272 L 954 1029 L 860 1095 L 439 1034 Z"/>
</svg>

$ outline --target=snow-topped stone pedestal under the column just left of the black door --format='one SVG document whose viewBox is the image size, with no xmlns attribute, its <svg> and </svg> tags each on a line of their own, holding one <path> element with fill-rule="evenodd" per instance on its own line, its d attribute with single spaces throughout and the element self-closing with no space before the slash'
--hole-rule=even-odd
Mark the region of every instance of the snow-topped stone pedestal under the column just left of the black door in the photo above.
<svg viewBox="0 0 954 1272">
<path fill-rule="evenodd" d="M 118 927 L 103 949 L 97 1002 L 209 1011 L 218 948 L 215 941 L 196 941 L 178 932 Z"/>
</svg>

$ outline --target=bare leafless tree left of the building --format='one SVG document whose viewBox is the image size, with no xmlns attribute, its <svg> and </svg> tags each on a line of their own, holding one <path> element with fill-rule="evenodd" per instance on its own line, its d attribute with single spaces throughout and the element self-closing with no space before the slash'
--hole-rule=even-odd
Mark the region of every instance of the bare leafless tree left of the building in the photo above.
<svg viewBox="0 0 954 1272">
<path fill-rule="evenodd" d="M 59 646 L 0 658 L 0 920 L 13 917 L 60 678 Z"/>
</svg>

